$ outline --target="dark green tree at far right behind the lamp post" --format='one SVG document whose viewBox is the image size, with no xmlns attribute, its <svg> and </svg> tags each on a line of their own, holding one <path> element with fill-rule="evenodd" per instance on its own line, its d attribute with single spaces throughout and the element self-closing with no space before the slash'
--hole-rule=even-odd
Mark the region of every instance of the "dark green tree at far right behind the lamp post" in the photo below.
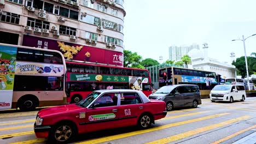
<svg viewBox="0 0 256 144">
<path fill-rule="evenodd" d="M 247 64 L 249 75 L 254 74 L 256 71 L 256 57 L 247 57 Z M 237 75 L 241 75 L 242 77 L 247 76 L 245 56 L 236 58 L 236 61 L 233 61 L 232 65 L 235 65 L 237 68 Z"/>
</svg>

